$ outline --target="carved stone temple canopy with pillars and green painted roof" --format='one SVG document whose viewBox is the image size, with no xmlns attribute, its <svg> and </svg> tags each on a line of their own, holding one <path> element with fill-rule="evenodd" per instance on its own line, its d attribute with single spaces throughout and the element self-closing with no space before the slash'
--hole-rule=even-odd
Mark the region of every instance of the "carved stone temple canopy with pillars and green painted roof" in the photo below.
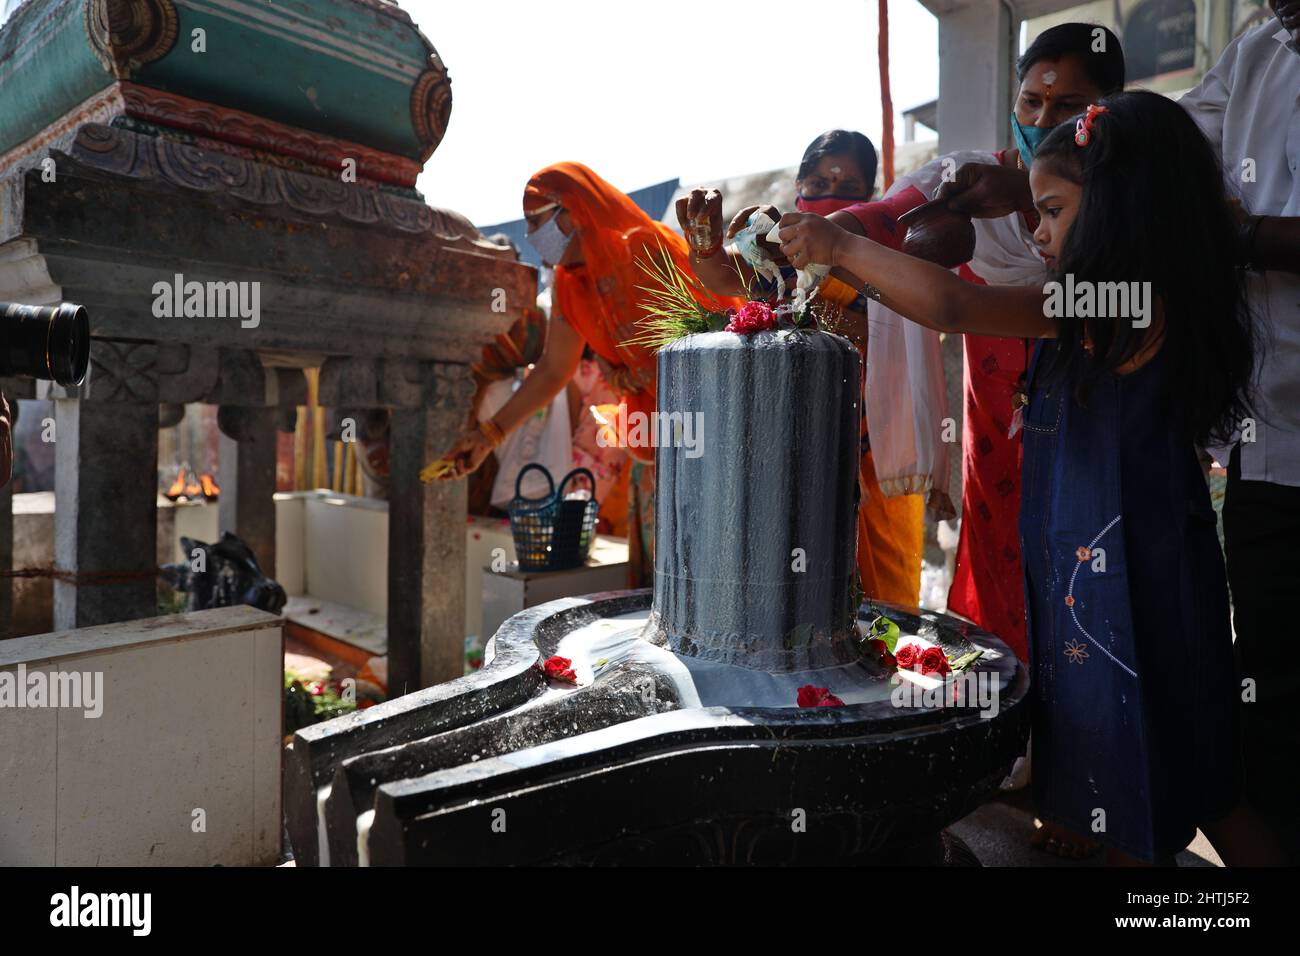
<svg viewBox="0 0 1300 956">
<path fill-rule="evenodd" d="M 446 66 L 385 0 L 12 10 L 0 300 L 77 302 L 92 333 L 82 386 L 3 382 L 56 399 L 56 566 L 83 576 L 56 581 L 56 628 L 155 613 L 160 407 L 220 406 L 221 527 L 274 575 L 276 431 L 320 367 L 321 405 L 393 412 L 393 685 L 460 674 L 465 490 L 417 472 L 463 423 L 468 363 L 533 303 L 536 273 L 416 191 L 450 113 Z M 159 284 L 195 282 L 244 316 L 155 307 Z"/>
</svg>

